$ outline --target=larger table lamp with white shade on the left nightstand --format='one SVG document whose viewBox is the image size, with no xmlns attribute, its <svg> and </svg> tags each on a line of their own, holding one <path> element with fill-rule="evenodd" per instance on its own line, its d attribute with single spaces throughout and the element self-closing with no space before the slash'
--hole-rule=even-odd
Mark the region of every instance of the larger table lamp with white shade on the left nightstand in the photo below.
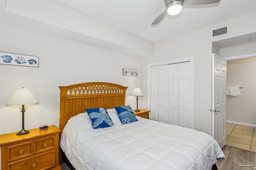
<svg viewBox="0 0 256 170">
<path fill-rule="evenodd" d="M 6 102 L 6 106 L 22 105 L 22 130 L 17 132 L 17 135 L 24 135 L 29 133 L 29 130 L 24 129 L 24 105 L 38 104 L 38 100 L 34 97 L 32 92 L 28 88 L 17 88 L 12 97 Z"/>
</svg>

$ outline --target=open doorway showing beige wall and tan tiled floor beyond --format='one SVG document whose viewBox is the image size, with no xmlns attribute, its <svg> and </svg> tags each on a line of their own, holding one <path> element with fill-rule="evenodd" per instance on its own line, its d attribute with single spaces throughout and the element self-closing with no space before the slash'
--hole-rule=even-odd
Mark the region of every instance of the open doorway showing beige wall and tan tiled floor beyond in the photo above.
<svg viewBox="0 0 256 170">
<path fill-rule="evenodd" d="M 227 144 L 256 152 L 256 57 L 228 60 L 227 86 L 238 86 L 238 96 L 227 96 Z M 238 85 L 238 84 L 241 84 Z"/>
</svg>

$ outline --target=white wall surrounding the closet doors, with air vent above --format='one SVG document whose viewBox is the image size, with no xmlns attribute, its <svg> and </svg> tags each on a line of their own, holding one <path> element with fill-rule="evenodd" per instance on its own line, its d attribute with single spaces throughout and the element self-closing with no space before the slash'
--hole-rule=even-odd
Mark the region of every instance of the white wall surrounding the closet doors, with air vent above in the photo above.
<svg viewBox="0 0 256 170">
<path fill-rule="evenodd" d="M 155 43 L 154 55 L 142 59 L 143 89 L 148 87 L 148 64 L 194 57 L 194 127 L 198 129 L 201 125 L 202 131 L 211 134 L 212 42 L 256 32 L 255 18 L 253 13 Z M 212 29 L 226 25 L 228 35 L 211 38 Z M 148 107 L 147 98 L 144 96 L 144 107 Z"/>
</svg>

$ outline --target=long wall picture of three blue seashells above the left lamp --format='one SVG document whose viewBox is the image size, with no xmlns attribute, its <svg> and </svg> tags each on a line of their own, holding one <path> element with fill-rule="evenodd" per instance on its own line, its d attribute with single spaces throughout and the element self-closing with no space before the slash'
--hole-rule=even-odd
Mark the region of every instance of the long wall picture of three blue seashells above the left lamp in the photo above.
<svg viewBox="0 0 256 170">
<path fill-rule="evenodd" d="M 0 64 L 39 67 L 39 57 L 0 51 Z"/>
</svg>

